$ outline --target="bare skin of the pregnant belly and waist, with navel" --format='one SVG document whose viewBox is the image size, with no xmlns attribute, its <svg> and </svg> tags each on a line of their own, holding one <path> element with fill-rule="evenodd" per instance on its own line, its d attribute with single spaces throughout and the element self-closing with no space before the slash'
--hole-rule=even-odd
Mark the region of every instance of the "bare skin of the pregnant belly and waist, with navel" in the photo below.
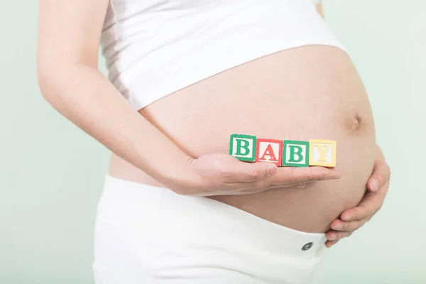
<svg viewBox="0 0 426 284">
<path fill-rule="evenodd" d="M 349 56 L 330 46 L 293 48 L 247 62 L 139 112 L 194 157 L 227 153 L 231 133 L 337 141 L 339 180 L 208 197 L 300 231 L 327 231 L 344 209 L 359 203 L 373 169 L 376 138 L 366 90 Z M 114 154 L 109 173 L 161 186 Z"/>
</svg>

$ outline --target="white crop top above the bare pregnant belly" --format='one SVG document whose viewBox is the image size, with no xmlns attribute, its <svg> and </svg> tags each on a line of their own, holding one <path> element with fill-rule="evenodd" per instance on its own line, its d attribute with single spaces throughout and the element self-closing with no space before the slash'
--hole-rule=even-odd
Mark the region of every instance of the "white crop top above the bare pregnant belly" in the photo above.
<svg viewBox="0 0 426 284">
<path fill-rule="evenodd" d="M 318 0 L 110 0 L 101 46 L 109 80 L 138 110 L 264 55 L 302 45 L 346 51 Z"/>
</svg>

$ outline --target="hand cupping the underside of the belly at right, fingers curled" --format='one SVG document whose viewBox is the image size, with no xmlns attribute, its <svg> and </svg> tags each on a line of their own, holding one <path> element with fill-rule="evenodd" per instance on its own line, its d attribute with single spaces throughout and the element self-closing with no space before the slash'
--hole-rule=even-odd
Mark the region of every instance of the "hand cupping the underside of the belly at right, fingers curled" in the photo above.
<svg viewBox="0 0 426 284">
<path fill-rule="evenodd" d="M 350 236 L 381 209 L 388 192 L 391 170 L 386 163 L 381 148 L 378 146 L 376 153 L 373 173 L 367 182 L 368 191 L 358 206 L 345 210 L 340 215 L 340 219 L 332 222 L 332 229 L 327 231 L 326 234 L 328 239 L 326 246 L 328 248 L 336 244 L 339 239 Z"/>
</svg>

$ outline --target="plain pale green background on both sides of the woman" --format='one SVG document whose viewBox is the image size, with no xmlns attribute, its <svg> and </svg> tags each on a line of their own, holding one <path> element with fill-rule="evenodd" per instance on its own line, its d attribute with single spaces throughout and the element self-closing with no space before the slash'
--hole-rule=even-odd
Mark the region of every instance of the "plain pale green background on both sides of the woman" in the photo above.
<svg viewBox="0 0 426 284">
<path fill-rule="evenodd" d="M 328 251 L 327 283 L 426 283 L 426 1 L 324 4 L 366 84 L 393 172 L 383 209 Z M 109 151 L 38 91 L 36 1 L 3 0 L 1 10 L 0 283 L 92 283 Z"/>
</svg>

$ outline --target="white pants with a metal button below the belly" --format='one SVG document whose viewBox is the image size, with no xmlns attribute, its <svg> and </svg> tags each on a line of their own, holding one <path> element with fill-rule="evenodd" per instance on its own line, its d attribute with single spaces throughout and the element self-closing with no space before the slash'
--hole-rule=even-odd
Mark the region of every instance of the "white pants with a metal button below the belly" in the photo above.
<svg viewBox="0 0 426 284">
<path fill-rule="evenodd" d="M 96 284 L 322 283 L 324 234 L 206 197 L 106 176 L 94 237 Z"/>
</svg>

